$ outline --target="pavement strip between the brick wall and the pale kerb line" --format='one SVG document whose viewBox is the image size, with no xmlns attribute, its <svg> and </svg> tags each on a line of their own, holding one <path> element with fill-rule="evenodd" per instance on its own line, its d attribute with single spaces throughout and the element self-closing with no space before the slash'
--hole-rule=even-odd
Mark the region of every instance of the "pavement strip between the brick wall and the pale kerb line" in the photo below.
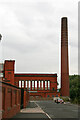
<svg viewBox="0 0 80 120">
<path fill-rule="evenodd" d="M 41 109 L 36 102 L 29 102 L 27 108 L 21 109 L 20 113 L 16 114 L 10 120 L 50 120 L 45 112 Z"/>
</svg>

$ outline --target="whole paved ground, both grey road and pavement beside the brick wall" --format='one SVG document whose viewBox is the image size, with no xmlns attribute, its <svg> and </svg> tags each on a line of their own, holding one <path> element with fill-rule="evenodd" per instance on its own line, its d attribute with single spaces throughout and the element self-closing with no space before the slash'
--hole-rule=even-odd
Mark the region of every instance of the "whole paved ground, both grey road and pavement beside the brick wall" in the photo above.
<svg viewBox="0 0 80 120">
<path fill-rule="evenodd" d="M 31 101 L 27 108 L 10 120 L 24 118 L 25 120 L 52 120 L 62 118 L 78 118 L 78 106 L 72 104 L 56 104 L 52 100 Z M 56 119 L 56 120 L 57 120 Z M 59 119 L 59 120 L 60 120 Z"/>
</svg>

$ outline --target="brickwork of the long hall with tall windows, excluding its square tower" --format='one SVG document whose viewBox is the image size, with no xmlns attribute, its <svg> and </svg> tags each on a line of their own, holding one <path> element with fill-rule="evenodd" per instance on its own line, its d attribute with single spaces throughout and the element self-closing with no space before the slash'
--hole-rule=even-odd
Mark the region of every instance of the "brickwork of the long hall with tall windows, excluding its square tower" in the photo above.
<svg viewBox="0 0 80 120">
<path fill-rule="evenodd" d="M 30 96 L 41 96 L 41 97 L 52 97 L 59 95 L 57 93 L 57 74 L 15 74 L 14 77 L 15 85 L 19 86 L 19 81 L 24 81 L 24 88 L 26 88 L 26 81 L 28 82 L 27 89 L 30 92 Z M 30 87 L 29 89 L 29 81 L 31 82 L 30 85 L 32 86 L 32 81 L 37 81 L 37 88 L 34 84 L 34 88 Z M 40 87 L 39 87 L 40 81 Z M 41 81 L 43 81 L 43 88 Z M 50 88 L 45 89 L 45 81 L 48 83 L 50 81 Z M 22 84 L 21 84 L 22 85 Z M 21 86 L 22 88 L 22 86 Z"/>
</svg>

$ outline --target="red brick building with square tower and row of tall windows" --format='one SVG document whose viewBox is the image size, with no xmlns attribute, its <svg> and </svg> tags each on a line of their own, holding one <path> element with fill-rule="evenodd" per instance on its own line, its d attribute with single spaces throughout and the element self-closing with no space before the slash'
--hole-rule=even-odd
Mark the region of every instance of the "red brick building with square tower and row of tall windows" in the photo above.
<svg viewBox="0 0 80 120">
<path fill-rule="evenodd" d="M 60 96 L 57 92 L 57 74 L 17 74 L 14 60 L 5 60 L 3 81 L 27 89 L 32 97 Z"/>
</svg>

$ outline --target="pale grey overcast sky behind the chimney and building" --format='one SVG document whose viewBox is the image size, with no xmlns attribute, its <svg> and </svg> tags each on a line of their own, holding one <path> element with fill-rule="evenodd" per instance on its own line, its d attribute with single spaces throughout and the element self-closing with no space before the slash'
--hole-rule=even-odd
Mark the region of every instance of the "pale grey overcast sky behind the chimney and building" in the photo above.
<svg viewBox="0 0 80 120">
<path fill-rule="evenodd" d="M 69 73 L 78 74 L 78 0 L 0 0 L 0 62 L 15 72 L 57 73 L 61 18 L 68 17 Z"/>
</svg>

